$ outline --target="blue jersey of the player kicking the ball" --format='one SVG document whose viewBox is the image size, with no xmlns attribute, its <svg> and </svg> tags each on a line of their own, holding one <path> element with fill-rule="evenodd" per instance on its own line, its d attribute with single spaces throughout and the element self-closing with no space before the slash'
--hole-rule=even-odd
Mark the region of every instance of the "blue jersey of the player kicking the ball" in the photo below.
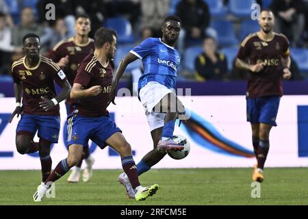
<svg viewBox="0 0 308 219">
<path fill-rule="evenodd" d="M 150 81 L 175 88 L 177 68 L 181 60 L 179 51 L 162 42 L 161 38 L 147 38 L 131 49 L 130 53 L 140 58 L 144 67 L 144 75 L 138 81 L 138 90 Z"/>
</svg>

